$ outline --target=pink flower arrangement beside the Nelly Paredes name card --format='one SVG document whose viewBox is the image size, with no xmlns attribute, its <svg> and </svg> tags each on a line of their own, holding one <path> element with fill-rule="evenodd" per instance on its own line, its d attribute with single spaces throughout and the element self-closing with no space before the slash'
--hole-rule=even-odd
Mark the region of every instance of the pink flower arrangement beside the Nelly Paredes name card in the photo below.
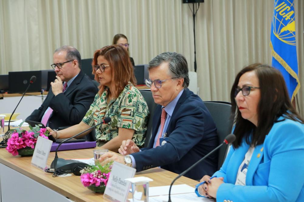
<svg viewBox="0 0 304 202">
<path fill-rule="evenodd" d="M 103 193 L 109 180 L 112 163 L 107 163 L 104 166 L 97 164 L 82 169 L 80 180 L 83 186 L 94 192 Z"/>
</svg>

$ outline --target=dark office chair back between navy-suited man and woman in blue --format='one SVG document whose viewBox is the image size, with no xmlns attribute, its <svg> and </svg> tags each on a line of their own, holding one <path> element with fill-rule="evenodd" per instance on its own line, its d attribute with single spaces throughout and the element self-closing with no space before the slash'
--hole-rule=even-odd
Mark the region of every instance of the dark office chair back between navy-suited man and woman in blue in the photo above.
<svg viewBox="0 0 304 202">
<path fill-rule="evenodd" d="M 231 104 L 219 101 L 205 101 L 204 103 L 214 120 L 217 128 L 217 135 L 219 137 L 219 144 L 221 144 L 225 137 L 231 133 L 231 126 L 233 123 L 233 121 L 230 120 Z M 218 170 L 224 163 L 227 151 L 228 145 L 223 145 L 219 149 Z"/>
</svg>

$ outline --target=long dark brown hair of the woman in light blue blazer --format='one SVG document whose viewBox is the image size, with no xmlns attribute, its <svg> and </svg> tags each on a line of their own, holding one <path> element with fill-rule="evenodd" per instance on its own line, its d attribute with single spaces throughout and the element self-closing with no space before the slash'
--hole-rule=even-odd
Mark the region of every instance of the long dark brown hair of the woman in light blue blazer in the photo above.
<svg viewBox="0 0 304 202">
<path fill-rule="evenodd" d="M 251 71 L 255 72 L 259 80 L 261 93 L 261 98 L 257 105 L 257 126 L 242 118 L 234 96 L 240 77 L 244 73 Z M 280 116 L 284 115 L 287 119 L 304 123 L 292 106 L 281 72 L 268 65 L 256 63 L 242 69 L 234 80 L 230 99 L 232 104 L 231 118 L 236 124 L 233 132 L 236 136 L 236 140 L 233 142 L 234 148 L 241 145 L 243 138 L 245 138 L 247 144 L 252 144 L 253 146 L 262 144 L 273 124 L 278 122 Z M 253 132 L 253 136 L 250 141 L 251 132 Z"/>
</svg>

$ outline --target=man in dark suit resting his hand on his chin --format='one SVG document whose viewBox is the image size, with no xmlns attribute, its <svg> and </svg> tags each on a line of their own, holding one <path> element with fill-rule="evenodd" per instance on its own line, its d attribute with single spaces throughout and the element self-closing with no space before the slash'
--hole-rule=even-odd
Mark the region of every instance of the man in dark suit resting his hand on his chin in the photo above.
<svg viewBox="0 0 304 202">
<path fill-rule="evenodd" d="M 26 118 L 52 129 L 80 123 L 98 92 L 95 84 L 81 71 L 77 49 L 62 46 L 55 50 L 51 66 L 57 76 L 39 109 Z"/>
</svg>

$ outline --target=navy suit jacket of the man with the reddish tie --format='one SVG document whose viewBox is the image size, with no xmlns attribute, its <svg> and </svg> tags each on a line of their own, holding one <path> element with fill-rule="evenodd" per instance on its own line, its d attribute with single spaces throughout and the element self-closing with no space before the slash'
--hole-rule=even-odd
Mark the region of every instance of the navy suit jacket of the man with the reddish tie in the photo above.
<svg viewBox="0 0 304 202">
<path fill-rule="evenodd" d="M 189 89 L 182 93 L 172 113 L 168 128 L 168 141 L 163 146 L 153 148 L 154 138 L 160 125 L 161 106 L 158 105 L 153 116 L 153 132 L 148 148 L 133 153 L 137 172 L 161 166 L 180 174 L 192 164 L 218 146 L 216 126 L 199 96 Z M 204 175 L 212 175 L 217 170 L 217 153 L 185 174 L 199 180 Z"/>
</svg>

